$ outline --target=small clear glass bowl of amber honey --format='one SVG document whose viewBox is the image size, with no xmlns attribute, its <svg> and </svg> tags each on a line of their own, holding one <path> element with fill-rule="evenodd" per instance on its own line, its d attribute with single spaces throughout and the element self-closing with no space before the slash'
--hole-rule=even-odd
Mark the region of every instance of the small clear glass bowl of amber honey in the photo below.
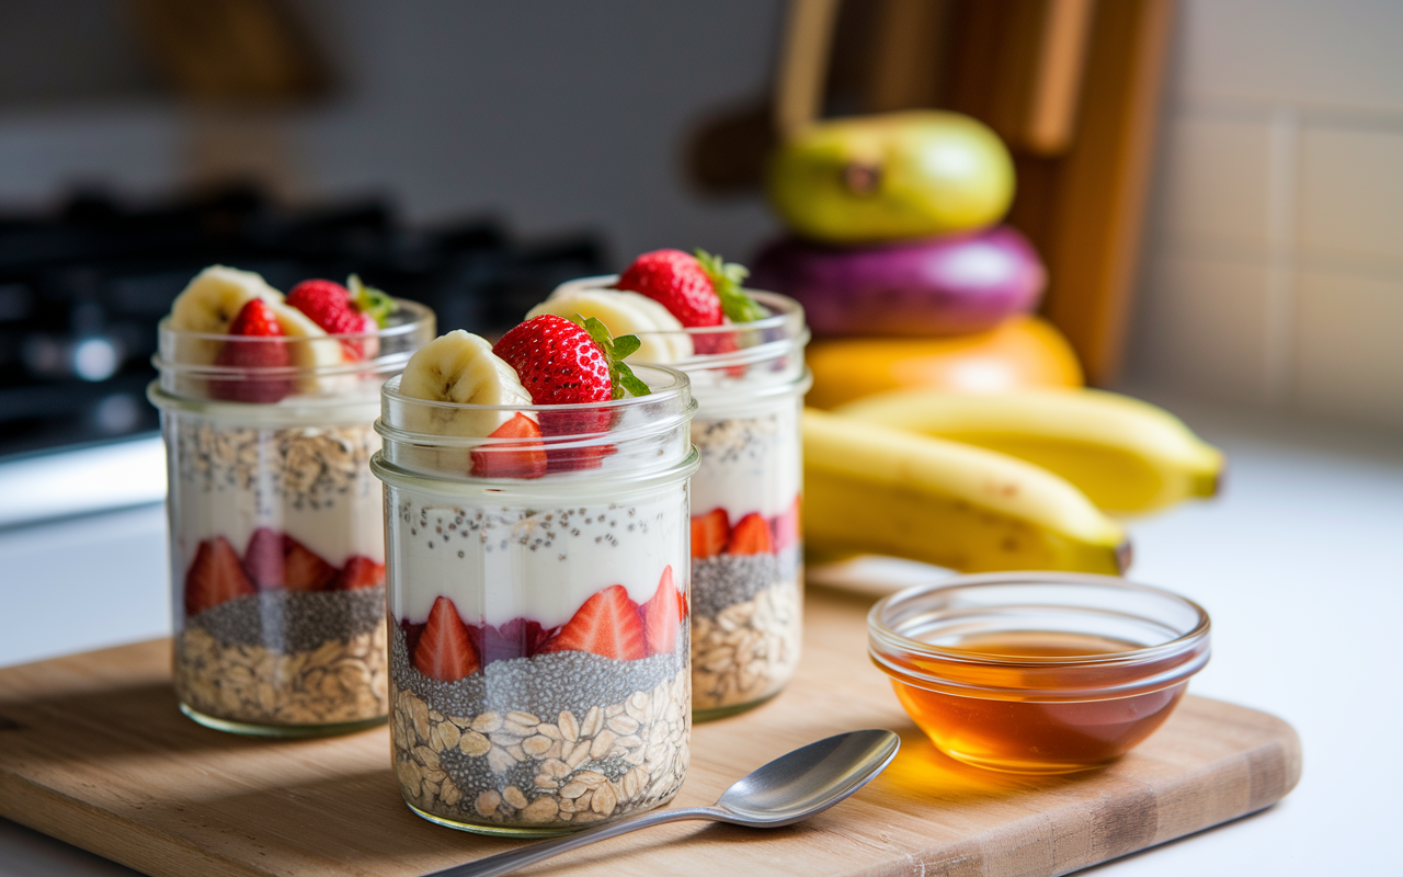
<svg viewBox="0 0 1403 877">
<path fill-rule="evenodd" d="M 1208 662 L 1208 613 L 1114 575 L 993 573 L 894 594 L 868 654 L 954 759 L 1072 773 L 1124 755 Z"/>
</svg>

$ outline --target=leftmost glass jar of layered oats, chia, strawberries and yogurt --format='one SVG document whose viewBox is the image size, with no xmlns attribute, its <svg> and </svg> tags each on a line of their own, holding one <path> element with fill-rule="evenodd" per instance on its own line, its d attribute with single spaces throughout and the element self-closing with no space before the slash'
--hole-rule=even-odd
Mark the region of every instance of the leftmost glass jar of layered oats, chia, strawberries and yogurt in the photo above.
<svg viewBox="0 0 1403 877">
<path fill-rule="evenodd" d="M 434 313 L 401 300 L 356 335 L 231 341 L 161 321 L 147 396 L 166 438 L 173 676 L 195 721 L 268 737 L 384 721 L 373 421 L 380 384 L 432 337 Z M 292 365 L 215 365 L 224 344 L 288 345 Z"/>
</svg>

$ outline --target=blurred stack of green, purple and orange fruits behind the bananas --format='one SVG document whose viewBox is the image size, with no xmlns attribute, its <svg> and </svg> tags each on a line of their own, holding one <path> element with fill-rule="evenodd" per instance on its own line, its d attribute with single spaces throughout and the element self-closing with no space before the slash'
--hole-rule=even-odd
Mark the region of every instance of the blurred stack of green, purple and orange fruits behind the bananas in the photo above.
<svg viewBox="0 0 1403 877">
<path fill-rule="evenodd" d="M 821 337 L 810 404 L 1080 384 L 1066 341 L 1030 316 L 1042 262 L 998 225 L 1013 187 L 999 138 L 948 112 L 821 123 L 777 153 L 769 192 L 793 236 L 759 254 L 752 285 L 798 299 Z"/>
</svg>

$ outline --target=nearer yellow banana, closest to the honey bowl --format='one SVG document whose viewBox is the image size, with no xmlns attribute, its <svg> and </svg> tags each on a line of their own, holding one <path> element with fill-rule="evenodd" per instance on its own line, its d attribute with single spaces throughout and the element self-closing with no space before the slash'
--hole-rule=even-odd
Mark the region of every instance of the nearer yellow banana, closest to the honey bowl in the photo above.
<svg viewBox="0 0 1403 877">
<path fill-rule="evenodd" d="M 1125 530 L 1058 476 L 1014 457 L 804 413 L 804 539 L 951 567 L 1121 573 Z"/>
</svg>

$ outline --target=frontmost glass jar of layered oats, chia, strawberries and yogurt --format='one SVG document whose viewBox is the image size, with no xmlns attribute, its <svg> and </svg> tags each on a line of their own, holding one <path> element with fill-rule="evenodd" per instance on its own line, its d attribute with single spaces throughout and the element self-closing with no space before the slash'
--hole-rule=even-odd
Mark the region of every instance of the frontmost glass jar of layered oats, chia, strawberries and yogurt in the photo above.
<svg viewBox="0 0 1403 877">
<path fill-rule="evenodd" d="M 370 467 L 384 481 L 390 739 L 404 800 L 429 821 L 560 834 L 682 784 L 696 404 L 682 373 L 634 372 L 652 394 L 602 404 L 459 406 L 384 386 Z M 546 436 L 435 431 L 474 418 L 463 431 L 485 435 L 519 415 Z M 522 460 L 536 477 L 501 474 Z"/>
</svg>

